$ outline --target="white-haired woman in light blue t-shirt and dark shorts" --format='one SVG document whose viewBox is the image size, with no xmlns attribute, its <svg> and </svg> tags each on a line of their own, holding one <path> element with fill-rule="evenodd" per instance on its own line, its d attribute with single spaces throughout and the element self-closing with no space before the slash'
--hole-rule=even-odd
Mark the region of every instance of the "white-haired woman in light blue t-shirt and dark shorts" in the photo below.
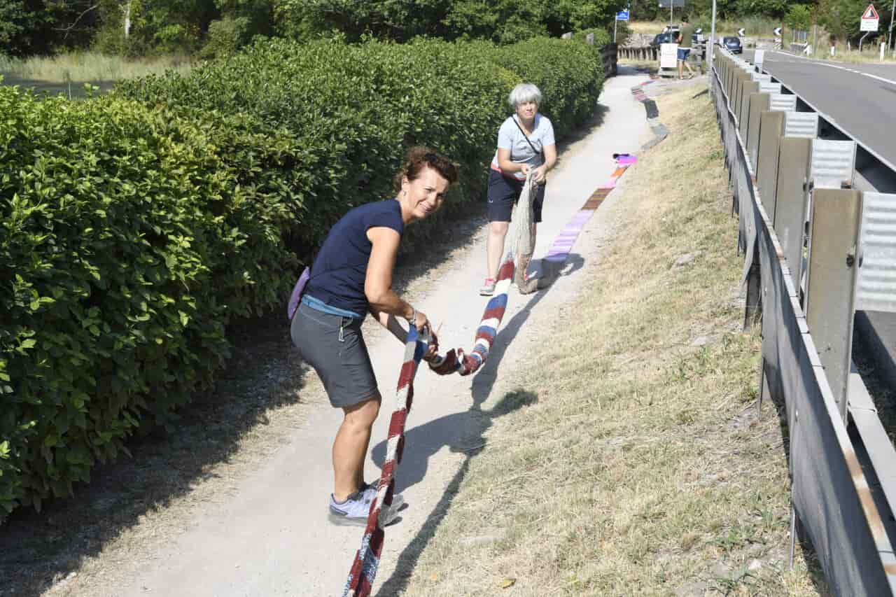
<svg viewBox="0 0 896 597">
<path fill-rule="evenodd" d="M 532 224 L 532 242 L 535 242 L 535 228 L 541 221 L 541 206 L 545 200 L 547 170 L 554 168 L 557 159 L 554 126 L 547 117 L 538 114 L 541 103 L 538 87 L 520 83 L 510 92 L 507 101 L 515 113 L 498 129 L 498 148 L 488 173 L 487 278 L 479 290 L 484 296 L 495 293 L 513 204 L 520 199 L 530 169 L 538 183 L 538 192 L 532 201 L 535 222 Z"/>
</svg>

